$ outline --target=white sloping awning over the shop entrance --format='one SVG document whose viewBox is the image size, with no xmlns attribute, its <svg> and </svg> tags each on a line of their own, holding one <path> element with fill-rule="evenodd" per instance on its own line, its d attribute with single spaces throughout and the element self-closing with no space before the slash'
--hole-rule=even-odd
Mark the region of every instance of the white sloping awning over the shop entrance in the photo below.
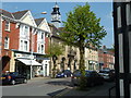
<svg viewBox="0 0 131 98">
<path fill-rule="evenodd" d="M 26 65 L 41 65 L 39 62 L 31 59 L 17 59 L 17 60 Z"/>
</svg>

